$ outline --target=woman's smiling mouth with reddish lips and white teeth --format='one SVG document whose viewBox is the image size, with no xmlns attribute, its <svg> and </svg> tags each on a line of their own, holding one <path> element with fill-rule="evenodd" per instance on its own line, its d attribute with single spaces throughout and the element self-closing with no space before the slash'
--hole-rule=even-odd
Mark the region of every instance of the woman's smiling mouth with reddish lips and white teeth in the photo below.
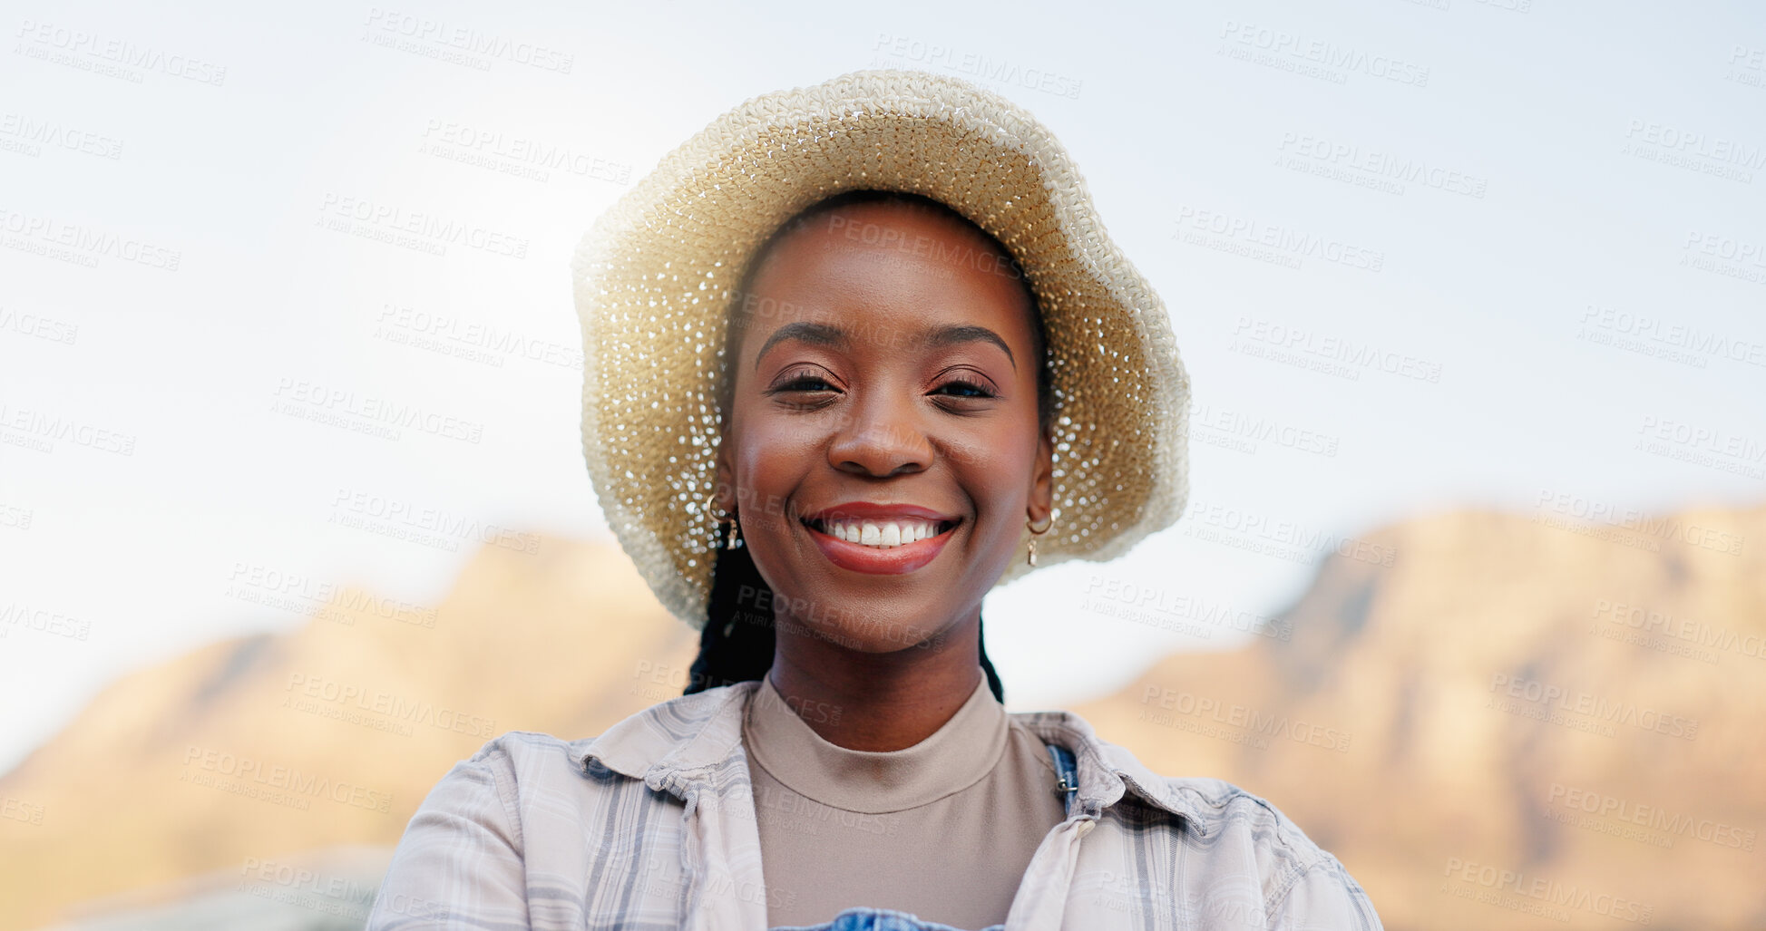
<svg viewBox="0 0 1766 931">
<path fill-rule="evenodd" d="M 932 562 L 962 519 L 918 505 L 848 502 L 802 523 L 828 562 L 855 572 L 902 574 Z"/>
</svg>

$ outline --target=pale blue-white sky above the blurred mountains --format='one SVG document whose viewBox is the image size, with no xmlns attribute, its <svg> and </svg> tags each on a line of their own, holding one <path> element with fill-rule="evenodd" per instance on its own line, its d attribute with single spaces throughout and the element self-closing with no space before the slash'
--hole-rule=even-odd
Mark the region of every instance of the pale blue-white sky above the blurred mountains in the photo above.
<svg viewBox="0 0 1766 931">
<path fill-rule="evenodd" d="M 721 111 L 864 67 L 1051 127 L 1196 389 L 1190 514 L 989 597 L 1014 708 L 1249 636 L 1088 588 L 1268 617 L 1328 548 L 1256 551 L 1286 534 L 1766 498 L 1757 4 L 411 11 L 4 23 L 0 770 L 120 673 L 302 624 L 238 572 L 438 599 L 468 548 L 346 526 L 360 502 L 606 539 L 570 251 Z M 383 242 L 419 214 L 463 233 Z M 445 426 L 378 436 L 367 405 Z"/>
</svg>

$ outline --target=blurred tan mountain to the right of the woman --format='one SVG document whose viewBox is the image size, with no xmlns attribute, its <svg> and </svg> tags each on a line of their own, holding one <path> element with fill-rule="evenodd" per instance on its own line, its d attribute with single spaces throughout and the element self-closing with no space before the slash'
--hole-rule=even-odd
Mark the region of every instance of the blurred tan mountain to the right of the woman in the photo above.
<svg viewBox="0 0 1766 931">
<path fill-rule="evenodd" d="M 1766 927 L 1766 509 L 1362 542 L 1289 640 L 1074 710 L 1273 802 L 1392 929 Z"/>
</svg>

